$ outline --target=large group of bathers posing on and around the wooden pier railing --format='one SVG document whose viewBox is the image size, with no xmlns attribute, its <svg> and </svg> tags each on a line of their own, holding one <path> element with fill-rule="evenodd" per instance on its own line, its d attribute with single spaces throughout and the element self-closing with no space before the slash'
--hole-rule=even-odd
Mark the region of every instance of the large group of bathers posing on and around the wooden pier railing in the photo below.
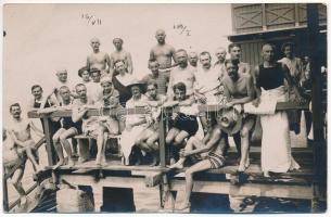
<svg viewBox="0 0 331 217">
<path fill-rule="evenodd" d="M 266 43 L 262 49 L 264 66 L 252 69 L 250 64 L 241 61 L 239 44 L 231 43 L 228 47 L 230 55 L 228 60 L 226 59 L 227 50 L 218 48 L 215 52 L 217 60 L 212 63 L 212 55 L 207 51 L 198 54 L 188 53 L 183 49 L 175 50 L 166 43 L 166 34 L 162 29 L 156 31 L 155 38 L 157 44 L 151 49 L 148 61 L 151 74 L 142 80 L 137 80 L 132 76 L 135 72 L 131 55 L 123 49 L 123 39 L 113 40 L 115 52 L 109 55 L 100 51 L 100 40 L 93 38 L 90 42 L 92 53 L 87 58 L 87 65 L 78 71 L 81 82 L 73 86 L 66 69 L 59 69 L 56 84 L 47 95 L 42 95 L 41 86 L 31 87 L 34 100 L 30 107 L 37 110 L 39 114 L 59 110 L 73 112 L 72 116 L 51 120 L 54 129 L 53 144 L 59 158 L 53 169 L 65 164 L 72 167 L 76 162 L 75 155 L 79 155 L 79 163 L 89 159 L 89 154 L 86 152 L 89 152 L 92 141 L 89 140 L 86 144 L 86 141 L 78 140 L 79 150 L 77 151 L 77 142 L 74 139 L 72 142 L 68 140 L 77 135 L 86 135 L 97 141 L 96 164 L 98 166 L 106 166 L 107 138 L 118 133 L 122 133 L 119 146 L 125 165 L 130 164 L 132 150 L 138 150 L 141 153 L 140 157 L 151 154 L 152 165 L 155 166 L 158 162 L 158 123 L 163 118 L 161 108 L 179 107 L 177 112 L 170 114 L 167 124 L 165 141 L 169 150 L 169 167 L 182 168 L 189 156 L 201 155 L 200 161 L 186 171 L 187 196 L 180 207 L 187 208 L 190 206 L 193 174 L 225 165 L 229 136 L 233 136 L 240 155 L 238 170 L 244 171 L 250 166 L 250 135 L 256 124 L 254 114 L 258 113 L 246 114 L 246 108 L 252 111 L 252 107 L 245 107 L 245 105 L 252 104 L 258 107 L 264 99 L 260 89 L 264 92 L 264 88 L 269 86 L 271 89 L 283 86 L 284 79 L 296 99 L 301 99 L 297 86 L 306 82 L 307 76 L 303 72 L 302 62 L 294 58 L 292 43 L 283 46 L 285 56 L 281 63 L 275 60 L 275 47 Z M 276 80 L 267 79 L 271 76 L 266 73 L 269 66 L 275 66 L 273 74 L 279 75 L 276 76 Z M 125 104 L 120 102 L 123 90 L 113 86 L 113 78 L 122 73 L 120 68 L 125 68 L 125 72 L 131 76 L 126 85 L 126 91 L 129 91 L 130 98 Z M 273 87 L 273 81 L 279 84 Z M 216 113 L 199 112 L 198 105 L 203 104 L 219 105 L 220 110 Z M 89 108 L 101 107 L 110 107 L 117 113 L 106 116 L 102 114 L 89 116 L 87 113 Z M 137 107 L 144 107 L 149 112 L 145 114 L 129 112 L 130 108 L 135 111 Z M 124 108 L 126 112 L 118 112 Z M 10 106 L 10 113 L 12 122 L 7 126 L 7 131 L 11 139 L 11 142 L 8 142 L 11 152 L 8 151 L 4 156 L 10 156 L 10 153 L 13 153 L 13 156 L 4 161 L 7 168 L 13 167 L 13 164 L 17 162 L 16 158 L 26 155 L 36 167 L 36 171 L 41 170 L 34 154 L 35 143 L 31 140 L 30 129 L 36 130 L 40 136 L 42 133 L 31 122 L 21 117 L 22 111 L 18 103 Z M 241 118 L 240 126 L 234 123 L 239 122 L 239 118 Z M 203 139 L 195 136 L 199 130 L 199 120 L 204 131 Z M 237 126 L 235 129 L 232 126 L 233 123 Z M 9 140 L 9 138 L 4 139 Z M 67 155 L 67 163 L 63 149 Z M 25 193 L 20 182 L 24 167 L 20 168 L 14 173 L 12 180 L 23 196 Z M 288 169 L 290 167 L 283 171 Z M 269 176 L 268 173 L 272 169 L 268 168 L 264 171 L 265 176 Z"/>
</svg>

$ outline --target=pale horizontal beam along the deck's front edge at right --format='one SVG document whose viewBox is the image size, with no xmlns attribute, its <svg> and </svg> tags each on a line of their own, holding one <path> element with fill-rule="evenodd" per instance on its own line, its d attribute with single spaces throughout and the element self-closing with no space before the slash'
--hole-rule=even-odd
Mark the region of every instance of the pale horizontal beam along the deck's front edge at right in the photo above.
<svg viewBox="0 0 331 217">
<path fill-rule="evenodd" d="M 182 191 L 186 188 L 184 180 L 173 180 L 171 191 Z M 213 194 L 231 194 L 241 196 L 266 196 L 266 197 L 284 197 L 284 199 L 313 199 L 311 187 L 285 186 L 285 184 L 262 184 L 245 183 L 233 186 L 229 182 L 219 181 L 194 181 L 193 192 L 213 193 Z"/>
</svg>

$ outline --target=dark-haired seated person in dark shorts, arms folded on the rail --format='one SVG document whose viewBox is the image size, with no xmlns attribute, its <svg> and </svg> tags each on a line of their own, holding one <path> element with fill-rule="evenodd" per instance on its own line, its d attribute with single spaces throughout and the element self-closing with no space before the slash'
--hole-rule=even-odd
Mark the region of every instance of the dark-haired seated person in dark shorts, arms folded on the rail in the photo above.
<svg viewBox="0 0 331 217">
<path fill-rule="evenodd" d="M 192 107 L 194 103 L 193 95 L 187 95 L 187 88 L 183 82 L 178 82 L 174 87 L 174 99 L 169 99 L 164 106 L 179 106 L 180 112 L 173 113 L 169 123 L 169 131 L 166 136 L 166 144 L 169 145 L 170 164 L 175 163 L 178 148 L 183 145 L 184 139 L 192 137 L 198 131 L 198 108 Z"/>
</svg>

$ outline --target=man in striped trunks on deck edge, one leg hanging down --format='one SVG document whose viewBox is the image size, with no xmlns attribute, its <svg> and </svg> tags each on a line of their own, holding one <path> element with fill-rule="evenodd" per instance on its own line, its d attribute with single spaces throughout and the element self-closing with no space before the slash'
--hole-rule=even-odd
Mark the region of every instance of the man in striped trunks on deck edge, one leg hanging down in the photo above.
<svg viewBox="0 0 331 217">
<path fill-rule="evenodd" d="M 206 133 L 203 140 L 196 137 L 191 137 L 183 150 L 180 151 L 179 161 L 171 165 L 170 168 L 182 168 L 183 163 L 189 156 L 199 154 L 201 161 L 189 167 L 186 170 L 186 195 L 182 204 L 178 209 L 190 208 L 190 196 L 193 189 L 193 175 L 198 171 L 207 169 L 217 169 L 225 165 L 225 148 L 226 140 L 225 133 L 220 128 L 220 116 L 215 118 L 216 123 L 213 123 L 212 130 Z"/>
</svg>

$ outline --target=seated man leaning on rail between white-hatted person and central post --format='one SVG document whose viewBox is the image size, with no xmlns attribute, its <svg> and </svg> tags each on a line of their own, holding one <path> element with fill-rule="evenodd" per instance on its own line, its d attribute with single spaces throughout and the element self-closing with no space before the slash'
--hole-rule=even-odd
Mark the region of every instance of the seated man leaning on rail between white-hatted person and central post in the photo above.
<svg viewBox="0 0 331 217">
<path fill-rule="evenodd" d="M 155 166 L 158 161 L 158 145 L 156 143 L 160 138 L 158 116 L 161 114 L 161 106 L 166 101 L 166 97 L 157 94 L 157 84 L 155 81 L 148 82 L 145 95 L 148 97 L 148 104 L 152 107 L 153 124 L 138 136 L 136 144 L 141 150 L 153 154 L 153 163 L 151 166 Z"/>
</svg>

